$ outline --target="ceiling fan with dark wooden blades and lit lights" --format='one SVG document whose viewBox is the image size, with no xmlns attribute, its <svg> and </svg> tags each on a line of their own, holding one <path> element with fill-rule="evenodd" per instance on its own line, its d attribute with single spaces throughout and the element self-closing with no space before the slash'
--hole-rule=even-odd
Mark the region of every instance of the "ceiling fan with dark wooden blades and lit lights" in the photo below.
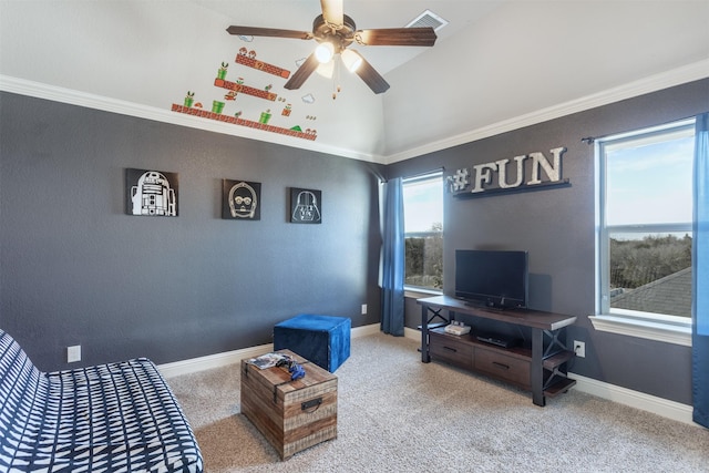
<svg viewBox="0 0 709 473">
<path fill-rule="evenodd" d="M 335 54 L 340 54 L 342 63 L 379 94 L 389 89 L 389 83 L 364 58 L 347 49 L 350 44 L 354 42 L 360 45 L 432 47 L 435 43 L 436 35 L 431 27 L 358 30 L 354 20 L 343 13 L 342 0 L 320 0 L 320 6 L 322 14 L 312 21 L 312 32 L 236 25 L 227 28 L 226 31 L 229 34 L 246 37 L 315 39 L 319 43 L 318 48 L 286 82 L 284 86 L 288 90 L 299 89 L 319 64 L 329 62 Z"/>
</svg>

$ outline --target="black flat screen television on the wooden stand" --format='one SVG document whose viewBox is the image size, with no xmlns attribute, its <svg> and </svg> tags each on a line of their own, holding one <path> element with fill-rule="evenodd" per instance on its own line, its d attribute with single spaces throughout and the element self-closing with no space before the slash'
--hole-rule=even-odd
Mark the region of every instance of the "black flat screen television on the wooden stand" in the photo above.
<svg viewBox="0 0 709 473">
<path fill-rule="evenodd" d="M 455 297 L 493 308 L 525 308 L 527 265 L 527 251 L 456 249 Z"/>
</svg>

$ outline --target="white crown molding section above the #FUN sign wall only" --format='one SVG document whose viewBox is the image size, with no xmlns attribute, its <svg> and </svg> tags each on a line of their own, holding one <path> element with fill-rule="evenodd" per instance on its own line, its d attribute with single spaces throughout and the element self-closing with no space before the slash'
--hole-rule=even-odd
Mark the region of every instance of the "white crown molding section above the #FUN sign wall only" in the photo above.
<svg viewBox="0 0 709 473">
<path fill-rule="evenodd" d="M 400 153 L 390 154 L 386 156 L 384 164 L 393 164 L 399 161 L 422 156 L 424 154 L 434 153 L 436 151 L 446 150 L 449 147 L 511 132 L 524 126 L 535 125 L 537 123 L 559 119 L 573 113 L 583 112 L 585 110 L 595 109 L 602 105 L 608 105 L 621 100 L 631 99 L 634 96 L 656 92 L 675 85 L 681 85 L 706 78 L 709 78 L 709 59 L 695 62 L 681 68 L 672 69 L 659 74 L 650 75 L 648 78 L 629 82 L 627 84 L 608 89 L 595 94 L 586 95 L 580 99 L 537 110 L 525 115 L 515 116 L 510 120 L 493 123 L 492 125 L 461 133 L 455 136 L 450 136 L 448 138 L 428 143 L 423 146 L 417 146 L 407 151 L 402 151 Z"/>
</svg>

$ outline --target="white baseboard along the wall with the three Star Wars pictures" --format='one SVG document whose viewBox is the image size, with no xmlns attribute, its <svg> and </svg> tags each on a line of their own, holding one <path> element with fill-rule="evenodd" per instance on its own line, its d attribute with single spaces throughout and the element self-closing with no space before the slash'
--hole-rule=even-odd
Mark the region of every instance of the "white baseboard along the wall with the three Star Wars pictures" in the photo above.
<svg viewBox="0 0 709 473">
<path fill-rule="evenodd" d="M 350 337 L 366 337 L 368 335 L 378 333 L 379 331 L 379 323 L 354 327 L 351 331 Z M 264 353 L 268 353 L 269 351 L 274 351 L 274 343 L 259 345 L 257 347 L 243 348 L 240 350 L 225 351 L 223 353 L 208 354 L 206 357 L 160 364 L 157 369 L 160 370 L 161 374 L 163 374 L 163 377 L 173 378 L 181 374 L 189 374 L 213 368 L 220 368 L 229 364 L 240 363 L 242 359 L 244 358 L 259 357 Z"/>
</svg>

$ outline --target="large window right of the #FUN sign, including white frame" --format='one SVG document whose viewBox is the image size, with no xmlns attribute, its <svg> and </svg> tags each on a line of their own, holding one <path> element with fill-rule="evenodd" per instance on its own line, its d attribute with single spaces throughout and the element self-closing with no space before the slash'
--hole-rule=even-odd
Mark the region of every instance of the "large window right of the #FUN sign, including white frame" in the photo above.
<svg viewBox="0 0 709 473">
<path fill-rule="evenodd" d="M 597 142 L 596 328 L 609 329 L 603 316 L 660 332 L 691 328 L 693 134 L 691 120 Z"/>
</svg>

